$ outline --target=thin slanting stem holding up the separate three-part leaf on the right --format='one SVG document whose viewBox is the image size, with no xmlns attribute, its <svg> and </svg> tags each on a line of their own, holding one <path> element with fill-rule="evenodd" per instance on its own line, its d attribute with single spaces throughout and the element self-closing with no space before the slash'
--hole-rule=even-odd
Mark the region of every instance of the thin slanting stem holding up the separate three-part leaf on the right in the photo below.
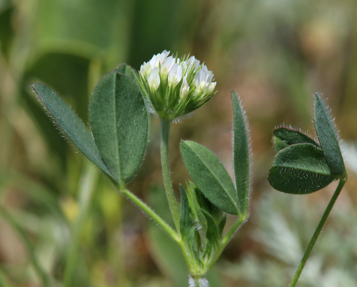
<svg viewBox="0 0 357 287">
<path fill-rule="evenodd" d="M 325 210 L 325 212 L 323 213 L 323 215 L 322 215 L 322 217 L 321 217 L 320 223 L 318 224 L 318 226 L 317 226 L 317 228 L 316 228 L 316 230 L 315 230 L 315 233 L 313 234 L 313 236 L 312 236 L 312 238 L 311 238 L 311 240 L 310 240 L 310 243 L 309 243 L 309 245 L 307 246 L 307 249 L 306 249 L 306 251 L 305 251 L 305 254 L 304 254 L 304 256 L 303 256 L 302 259 L 301 259 L 300 265 L 299 265 L 299 267 L 298 267 L 297 270 L 296 270 L 295 276 L 294 276 L 294 278 L 292 279 L 292 282 L 291 282 L 291 284 L 290 284 L 290 287 L 294 287 L 294 286 L 296 285 L 297 280 L 299 279 L 300 274 L 301 274 L 301 272 L 302 272 L 302 269 L 303 269 L 304 266 L 305 266 L 305 263 L 306 263 L 306 261 L 307 261 L 307 258 L 309 257 L 310 252 L 311 252 L 312 248 L 314 247 L 314 245 L 315 245 L 315 243 L 316 243 L 317 237 L 320 235 L 320 232 L 321 232 L 321 230 L 322 230 L 322 227 L 323 227 L 323 225 L 324 225 L 325 222 L 326 222 L 326 219 L 327 219 L 327 217 L 328 217 L 328 214 L 330 214 L 330 211 L 331 211 L 333 205 L 335 204 L 336 199 L 337 199 L 338 195 L 340 194 L 341 189 L 342 189 L 343 185 L 345 185 L 345 183 L 346 183 L 346 178 L 340 179 L 340 182 L 338 183 L 338 186 L 337 186 L 337 188 L 336 188 L 336 190 L 335 190 L 335 193 L 333 194 L 333 196 L 332 196 L 330 202 L 328 203 L 328 205 L 327 205 L 327 207 L 326 207 L 326 210 Z"/>
</svg>

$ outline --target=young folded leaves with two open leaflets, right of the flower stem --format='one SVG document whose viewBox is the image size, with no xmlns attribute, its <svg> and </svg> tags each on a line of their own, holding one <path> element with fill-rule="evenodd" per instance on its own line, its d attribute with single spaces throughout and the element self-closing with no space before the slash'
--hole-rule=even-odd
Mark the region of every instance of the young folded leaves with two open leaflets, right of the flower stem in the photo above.
<svg viewBox="0 0 357 287">
<path fill-rule="evenodd" d="M 245 114 L 232 92 L 233 103 L 233 157 L 235 182 L 233 183 L 220 160 L 209 149 L 190 140 L 180 144 L 183 162 L 193 182 L 187 191 L 181 185 L 181 236 L 192 261 L 207 272 L 232 234 L 247 218 L 249 192 L 249 139 Z M 225 237 L 222 236 L 226 213 L 238 215 L 237 223 Z M 201 234 L 205 234 L 202 246 Z"/>
</svg>

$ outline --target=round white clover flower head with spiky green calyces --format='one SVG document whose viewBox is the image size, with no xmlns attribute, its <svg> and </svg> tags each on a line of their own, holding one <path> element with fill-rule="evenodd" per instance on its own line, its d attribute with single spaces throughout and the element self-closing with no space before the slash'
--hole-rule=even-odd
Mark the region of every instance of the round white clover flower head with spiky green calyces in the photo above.
<svg viewBox="0 0 357 287">
<path fill-rule="evenodd" d="M 216 82 L 195 56 L 180 59 L 169 54 L 164 50 L 144 62 L 137 82 L 150 111 L 174 121 L 205 104 L 214 95 Z"/>
</svg>

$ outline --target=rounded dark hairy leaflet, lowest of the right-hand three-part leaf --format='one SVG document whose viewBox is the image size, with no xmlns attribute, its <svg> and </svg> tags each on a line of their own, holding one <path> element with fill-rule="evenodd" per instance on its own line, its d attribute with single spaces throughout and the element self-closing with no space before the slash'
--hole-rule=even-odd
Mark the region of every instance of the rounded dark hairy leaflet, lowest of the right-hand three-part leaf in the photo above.
<svg viewBox="0 0 357 287">
<path fill-rule="evenodd" d="M 315 192 L 334 179 L 321 149 L 310 143 L 293 144 L 278 152 L 268 175 L 273 188 L 292 194 Z"/>
</svg>

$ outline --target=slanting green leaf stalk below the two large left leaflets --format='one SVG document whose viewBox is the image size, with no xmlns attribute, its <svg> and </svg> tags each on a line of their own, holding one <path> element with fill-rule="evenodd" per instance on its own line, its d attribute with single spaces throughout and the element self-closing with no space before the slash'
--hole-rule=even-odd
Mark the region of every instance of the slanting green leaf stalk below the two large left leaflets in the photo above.
<svg viewBox="0 0 357 287">
<path fill-rule="evenodd" d="M 141 201 L 138 197 L 135 196 L 135 194 L 132 194 L 129 190 L 126 188 L 120 189 L 120 192 L 129 198 L 132 202 L 134 202 L 140 209 L 142 209 L 147 215 L 149 215 L 152 219 L 156 221 L 159 226 L 164 229 L 164 231 L 169 234 L 169 236 L 174 239 L 176 242 L 180 242 L 181 239 L 178 236 L 177 232 L 170 227 L 169 224 L 167 224 L 160 216 L 158 216 L 155 211 L 153 211 L 149 206 L 147 206 L 144 202 Z"/>
</svg>

